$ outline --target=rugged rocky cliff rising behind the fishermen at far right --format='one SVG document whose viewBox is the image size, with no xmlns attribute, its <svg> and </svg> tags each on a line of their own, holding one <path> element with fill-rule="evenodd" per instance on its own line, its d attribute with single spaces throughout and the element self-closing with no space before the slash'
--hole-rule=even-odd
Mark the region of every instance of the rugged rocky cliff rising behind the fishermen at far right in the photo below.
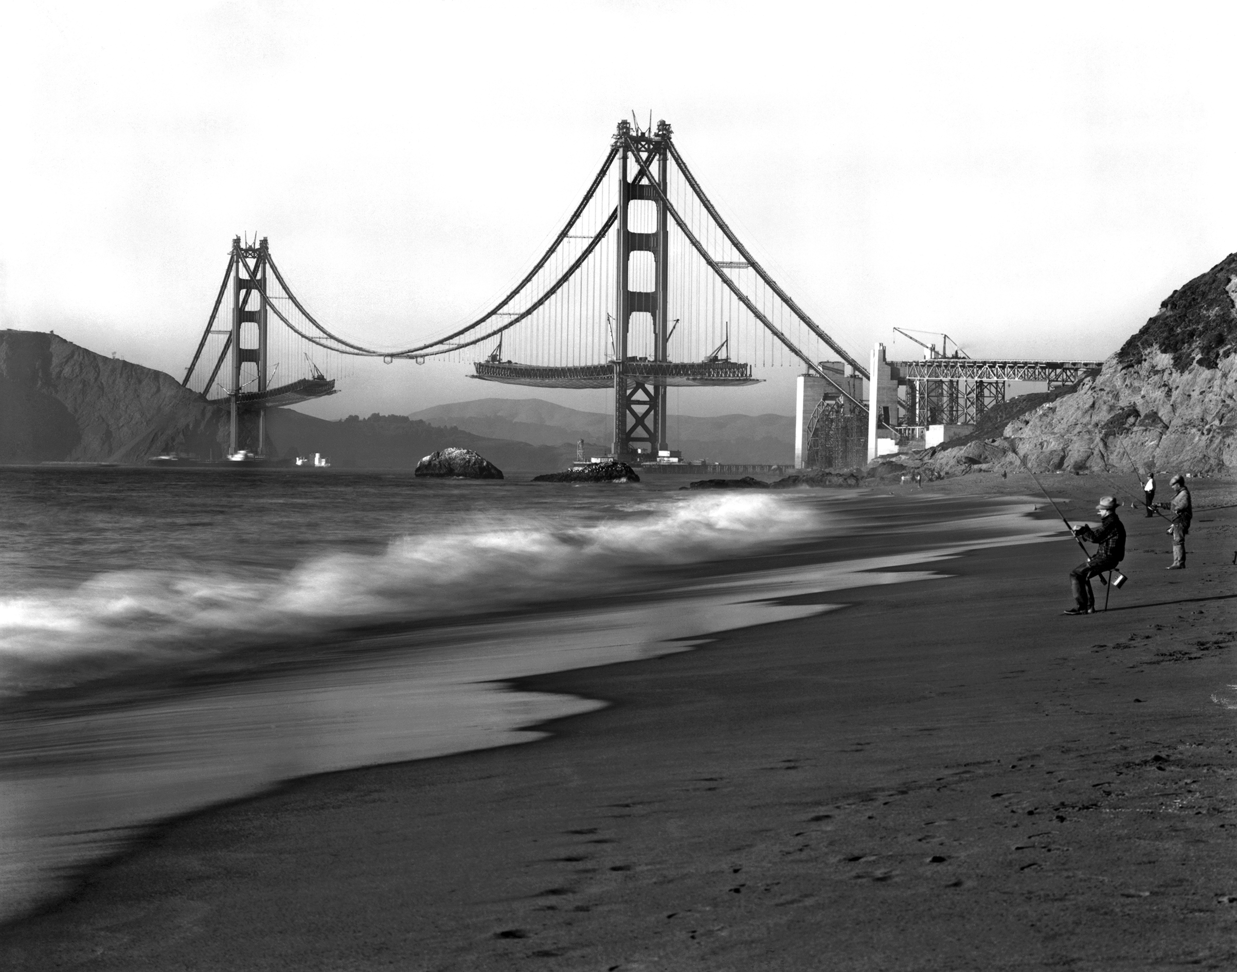
<svg viewBox="0 0 1237 972">
<path fill-rule="evenodd" d="M 1013 469 L 1018 459 L 1006 449 L 1035 472 L 1231 474 L 1237 471 L 1235 393 L 1237 254 L 1174 291 L 1100 373 L 1072 392 L 1028 402 L 999 430 L 985 429 L 986 441 L 976 435 L 925 459 L 940 475 L 976 464 Z"/>
</svg>

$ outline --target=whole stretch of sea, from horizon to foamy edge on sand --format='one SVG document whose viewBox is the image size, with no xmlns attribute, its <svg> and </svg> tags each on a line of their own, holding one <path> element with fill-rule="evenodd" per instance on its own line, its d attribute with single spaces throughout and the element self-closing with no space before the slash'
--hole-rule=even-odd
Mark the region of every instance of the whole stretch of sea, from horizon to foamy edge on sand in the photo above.
<svg viewBox="0 0 1237 972">
<path fill-rule="evenodd" d="M 160 820 L 601 705 L 521 676 L 1044 533 L 1019 501 L 678 485 L 0 467 L 0 919 Z"/>
</svg>

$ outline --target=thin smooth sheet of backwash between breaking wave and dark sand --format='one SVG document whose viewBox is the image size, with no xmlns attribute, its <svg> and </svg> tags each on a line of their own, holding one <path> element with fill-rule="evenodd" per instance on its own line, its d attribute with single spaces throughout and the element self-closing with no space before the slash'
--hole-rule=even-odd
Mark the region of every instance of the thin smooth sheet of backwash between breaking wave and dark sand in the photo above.
<svg viewBox="0 0 1237 972">
<path fill-rule="evenodd" d="M 0 721 L 9 743 L 0 785 L 11 793 L 0 821 L 0 916 L 63 897 L 57 889 L 74 871 L 89 873 L 168 820 L 319 773 L 534 742 L 546 735 L 539 723 L 604 706 L 521 691 L 515 680 L 690 650 L 720 632 L 835 610 L 792 606 L 795 595 L 940 579 L 961 550 L 1042 542 L 1029 508 L 949 501 L 925 517 L 919 503 L 899 512 L 882 500 L 790 552 L 668 570 L 637 611 L 610 595 L 447 627 L 345 631 L 327 650 L 302 646 L 285 657 L 288 646 L 278 646 L 273 665 L 244 650 L 246 668 L 224 657 L 178 684 L 156 671 L 84 684 L 58 706 L 54 694 L 35 696 Z M 931 522 L 939 514 L 950 538 Z M 913 533 L 889 532 L 889 517 Z M 882 532 L 867 545 L 884 554 L 856 559 L 846 540 L 873 522 Z"/>
</svg>

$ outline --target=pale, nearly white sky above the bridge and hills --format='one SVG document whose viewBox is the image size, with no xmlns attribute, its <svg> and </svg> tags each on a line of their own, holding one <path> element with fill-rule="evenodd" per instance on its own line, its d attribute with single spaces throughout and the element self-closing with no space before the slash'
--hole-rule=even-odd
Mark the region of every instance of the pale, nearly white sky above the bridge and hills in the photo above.
<svg viewBox="0 0 1237 972">
<path fill-rule="evenodd" d="M 631 111 L 856 357 L 1102 359 L 1237 250 L 1220 4 L 0 5 L 0 326 L 183 376 L 234 235 L 369 346 L 443 333 L 558 230 Z M 359 361 L 338 418 L 605 392 Z M 684 390 L 794 411 L 797 369 Z"/>
</svg>

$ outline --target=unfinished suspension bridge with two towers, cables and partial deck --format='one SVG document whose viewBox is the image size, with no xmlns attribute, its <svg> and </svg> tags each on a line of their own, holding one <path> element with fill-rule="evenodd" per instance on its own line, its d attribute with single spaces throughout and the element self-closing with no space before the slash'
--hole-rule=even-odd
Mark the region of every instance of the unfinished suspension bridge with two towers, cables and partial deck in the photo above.
<svg viewBox="0 0 1237 972">
<path fill-rule="evenodd" d="M 1100 366 L 948 357 L 928 345 L 923 361 L 888 362 L 878 345 L 862 364 L 755 260 L 672 136 L 666 121 L 618 122 L 532 268 L 481 317 L 408 347 L 333 333 L 296 297 L 265 237 L 234 239 L 182 383 L 230 408 L 231 454 L 262 454 L 266 409 L 333 394 L 349 357 L 469 361 L 482 381 L 612 388 L 611 455 L 647 463 L 672 455 L 668 388 L 742 387 L 761 381 L 753 365 L 789 365 L 803 369 L 797 465 L 851 466 L 929 424 L 974 422 L 1009 381 L 1074 382 Z"/>
</svg>

